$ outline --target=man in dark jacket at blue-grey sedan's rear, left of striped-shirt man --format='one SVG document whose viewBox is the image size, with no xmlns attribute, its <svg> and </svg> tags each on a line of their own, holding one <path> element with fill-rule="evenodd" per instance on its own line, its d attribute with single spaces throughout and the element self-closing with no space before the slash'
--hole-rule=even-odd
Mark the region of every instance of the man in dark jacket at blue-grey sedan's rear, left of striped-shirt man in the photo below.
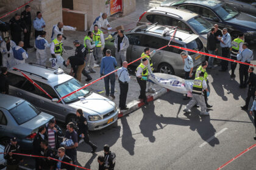
<svg viewBox="0 0 256 170">
<path fill-rule="evenodd" d="M 43 140 L 48 140 L 47 136 L 45 135 L 46 128 L 45 126 L 40 126 L 37 132 L 37 135 L 35 135 L 34 141 L 33 141 L 33 151 L 35 155 L 40 155 L 41 147 L 40 143 Z M 35 158 L 35 169 L 38 170 L 40 165 L 40 159 Z"/>
</svg>

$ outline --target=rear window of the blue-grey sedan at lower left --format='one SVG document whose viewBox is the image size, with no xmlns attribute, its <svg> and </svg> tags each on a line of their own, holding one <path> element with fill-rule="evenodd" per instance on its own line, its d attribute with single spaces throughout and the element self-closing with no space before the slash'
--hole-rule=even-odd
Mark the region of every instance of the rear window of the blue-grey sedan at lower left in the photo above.
<svg viewBox="0 0 256 170">
<path fill-rule="evenodd" d="M 29 102 L 23 101 L 23 103 L 10 109 L 9 112 L 18 124 L 23 124 L 36 117 L 41 111 Z"/>
</svg>

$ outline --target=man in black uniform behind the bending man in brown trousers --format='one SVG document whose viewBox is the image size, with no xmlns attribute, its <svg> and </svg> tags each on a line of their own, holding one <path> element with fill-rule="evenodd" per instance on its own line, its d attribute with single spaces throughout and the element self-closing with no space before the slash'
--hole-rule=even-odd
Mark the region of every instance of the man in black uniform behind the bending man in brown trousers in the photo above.
<svg viewBox="0 0 256 170">
<path fill-rule="evenodd" d="M 80 44 L 80 42 L 78 40 L 75 40 L 73 42 L 73 44 L 76 47 L 75 56 L 79 57 L 79 58 L 82 58 L 85 61 L 85 64 L 86 64 L 86 49 L 85 49 L 85 47 L 82 44 Z M 85 77 L 87 77 L 86 81 L 90 81 L 91 79 L 93 79 L 93 78 L 91 78 L 91 76 L 87 72 L 85 72 L 85 69 L 82 70 L 82 74 Z"/>
</svg>

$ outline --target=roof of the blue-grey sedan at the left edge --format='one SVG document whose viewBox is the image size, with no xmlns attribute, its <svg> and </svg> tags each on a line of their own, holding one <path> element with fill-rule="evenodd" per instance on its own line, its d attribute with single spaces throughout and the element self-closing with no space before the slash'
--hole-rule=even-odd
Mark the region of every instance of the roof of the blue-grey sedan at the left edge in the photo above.
<svg viewBox="0 0 256 170">
<path fill-rule="evenodd" d="M 16 106 L 16 103 L 22 103 L 24 100 L 11 95 L 0 94 L 0 107 L 10 110 Z"/>
</svg>

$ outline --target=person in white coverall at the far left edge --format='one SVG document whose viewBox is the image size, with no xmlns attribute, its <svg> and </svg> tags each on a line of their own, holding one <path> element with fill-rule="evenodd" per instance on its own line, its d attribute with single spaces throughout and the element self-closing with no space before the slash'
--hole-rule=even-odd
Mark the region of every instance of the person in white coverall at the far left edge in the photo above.
<svg viewBox="0 0 256 170">
<path fill-rule="evenodd" d="M 4 38 L 0 46 L 0 52 L 2 53 L 2 66 L 3 67 L 13 67 L 14 66 L 14 58 L 12 48 L 15 47 L 16 44 L 14 41 L 10 40 L 10 38 Z"/>
</svg>

